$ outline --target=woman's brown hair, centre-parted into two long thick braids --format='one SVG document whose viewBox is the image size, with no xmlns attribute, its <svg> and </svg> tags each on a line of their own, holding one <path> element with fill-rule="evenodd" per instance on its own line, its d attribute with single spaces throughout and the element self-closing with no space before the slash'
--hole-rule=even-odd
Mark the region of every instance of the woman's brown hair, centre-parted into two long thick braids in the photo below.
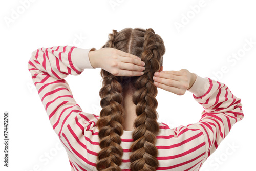
<svg viewBox="0 0 256 171">
<path fill-rule="evenodd" d="M 153 29 L 125 28 L 120 32 L 113 30 L 109 40 L 101 48 L 116 48 L 131 53 L 145 62 L 144 74 L 134 77 L 114 76 L 101 69 L 103 77 L 100 118 L 96 126 L 99 129 L 100 148 L 98 170 L 121 170 L 123 151 L 120 146 L 123 134 L 123 92 L 133 93 L 137 118 L 134 123 L 134 142 L 131 145 L 131 170 L 155 170 L 158 167 L 155 146 L 159 132 L 156 108 L 157 88 L 153 76 L 163 64 L 165 46 L 162 38 Z"/>
</svg>

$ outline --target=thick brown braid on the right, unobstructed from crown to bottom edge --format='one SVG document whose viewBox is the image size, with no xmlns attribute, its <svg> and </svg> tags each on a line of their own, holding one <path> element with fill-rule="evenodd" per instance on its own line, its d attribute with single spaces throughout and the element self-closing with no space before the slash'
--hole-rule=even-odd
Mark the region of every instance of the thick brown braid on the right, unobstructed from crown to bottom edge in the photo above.
<svg viewBox="0 0 256 171">
<path fill-rule="evenodd" d="M 144 75 L 137 79 L 133 95 L 136 105 L 137 118 L 135 120 L 135 131 L 133 132 L 134 143 L 131 146 L 130 156 L 131 170 L 152 171 L 158 167 L 158 149 L 155 146 L 156 135 L 159 132 L 157 123 L 158 113 L 156 108 L 157 88 L 153 84 L 154 73 L 160 69 L 162 55 L 156 43 L 157 38 L 153 29 L 147 29 L 144 34 L 144 51 L 141 60 L 146 63 Z"/>
</svg>

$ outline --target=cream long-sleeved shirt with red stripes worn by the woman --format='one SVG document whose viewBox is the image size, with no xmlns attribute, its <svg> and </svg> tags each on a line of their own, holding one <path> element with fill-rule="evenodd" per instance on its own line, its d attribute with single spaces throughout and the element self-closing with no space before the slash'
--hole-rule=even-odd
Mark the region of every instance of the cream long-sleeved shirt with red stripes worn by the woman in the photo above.
<svg viewBox="0 0 256 171">
<path fill-rule="evenodd" d="M 28 69 L 44 105 L 53 130 L 68 154 L 71 170 L 97 170 L 99 147 L 99 114 L 86 113 L 76 103 L 69 84 L 69 74 L 79 75 L 84 69 L 94 69 L 90 50 L 74 46 L 39 48 L 32 52 Z M 197 78 L 188 89 L 203 106 L 201 119 L 194 124 L 170 128 L 159 123 L 156 147 L 159 167 L 156 170 L 199 170 L 217 149 L 234 123 L 243 119 L 241 99 L 221 82 Z M 123 149 L 120 168 L 128 171 L 133 131 L 121 135 Z"/>
</svg>

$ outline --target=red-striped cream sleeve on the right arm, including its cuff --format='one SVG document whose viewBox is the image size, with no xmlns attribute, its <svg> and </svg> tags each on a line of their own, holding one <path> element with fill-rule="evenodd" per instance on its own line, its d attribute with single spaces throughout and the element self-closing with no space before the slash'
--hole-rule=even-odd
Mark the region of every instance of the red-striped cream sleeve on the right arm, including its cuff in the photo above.
<svg viewBox="0 0 256 171">
<path fill-rule="evenodd" d="M 234 96 L 226 84 L 198 75 L 188 91 L 204 108 L 200 121 L 188 126 L 198 127 L 204 135 L 205 161 L 216 151 L 231 127 L 243 119 L 241 99 Z"/>
</svg>

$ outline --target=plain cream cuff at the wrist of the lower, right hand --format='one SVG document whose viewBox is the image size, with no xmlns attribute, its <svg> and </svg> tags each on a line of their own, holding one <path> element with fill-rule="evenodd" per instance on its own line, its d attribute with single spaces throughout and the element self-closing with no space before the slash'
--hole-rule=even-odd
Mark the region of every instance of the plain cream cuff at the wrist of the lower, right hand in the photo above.
<svg viewBox="0 0 256 171">
<path fill-rule="evenodd" d="M 190 89 L 187 89 L 187 91 L 193 93 L 196 97 L 200 97 L 209 90 L 210 82 L 208 78 L 202 78 L 197 74 L 196 76 L 196 81 L 194 82 L 193 86 Z"/>
</svg>

